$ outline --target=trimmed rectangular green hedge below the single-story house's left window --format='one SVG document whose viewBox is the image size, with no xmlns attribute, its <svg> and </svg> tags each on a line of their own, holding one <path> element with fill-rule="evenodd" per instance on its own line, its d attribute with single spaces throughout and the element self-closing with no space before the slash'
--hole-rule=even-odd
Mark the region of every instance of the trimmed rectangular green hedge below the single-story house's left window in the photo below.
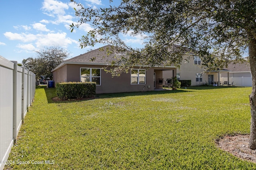
<svg viewBox="0 0 256 170">
<path fill-rule="evenodd" d="M 56 94 L 62 100 L 90 98 L 96 94 L 95 82 L 62 82 L 56 84 Z"/>
</svg>

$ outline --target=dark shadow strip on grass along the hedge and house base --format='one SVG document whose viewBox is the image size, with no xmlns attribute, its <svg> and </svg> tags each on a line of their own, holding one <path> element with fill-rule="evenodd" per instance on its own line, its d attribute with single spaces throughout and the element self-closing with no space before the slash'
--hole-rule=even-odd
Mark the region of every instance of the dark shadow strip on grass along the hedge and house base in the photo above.
<svg viewBox="0 0 256 170">
<path fill-rule="evenodd" d="M 95 100 L 98 98 L 120 98 L 127 96 L 143 96 L 143 95 L 154 95 L 154 94 L 172 94 L 172 93 L 182 93 L 190 92 L 188 89 L 178 89 L 178 90 L 160 90 L 160 91 L 147 91 L 147 92 L 123 92 L 123 93 L 108 93 L 108 94 L 96 94 L 94 98 L 82 98 L 82 99 L 70 99 L 56 101 L 52 100 L 57 97 L 55 88 L 46 88 L 46 86 L 38 86 L 37 88 L 44 88 L 46 98 L 48 103 L 72 103 L 72 102 L 82 102 L 86 100 Z"/>
</svg>

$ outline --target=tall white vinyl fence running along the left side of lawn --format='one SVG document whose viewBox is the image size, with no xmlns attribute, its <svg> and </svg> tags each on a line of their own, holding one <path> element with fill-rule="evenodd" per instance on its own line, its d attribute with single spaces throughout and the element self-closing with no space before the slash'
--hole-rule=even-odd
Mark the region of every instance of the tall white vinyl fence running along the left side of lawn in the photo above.
<svg viewBox="0 0 256 170">
<path fill-rule="evenodd" d="M 0 170 L 34 99 L 36 75 L 0 56 Z"/>
</svg>

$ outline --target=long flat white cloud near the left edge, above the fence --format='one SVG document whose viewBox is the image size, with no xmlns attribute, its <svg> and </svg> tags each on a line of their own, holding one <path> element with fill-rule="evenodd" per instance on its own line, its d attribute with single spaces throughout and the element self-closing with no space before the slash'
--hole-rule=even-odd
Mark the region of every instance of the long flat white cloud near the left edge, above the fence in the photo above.
<svg viewBox="0 0 256 170">
<path fill-rule="evenodd" d="M 31 42 L 37 39 L 37 35 L 25 33 L 5 32 L 4 36 L 10 40 L 20 40 L 22 42 Z"/>
</svg>

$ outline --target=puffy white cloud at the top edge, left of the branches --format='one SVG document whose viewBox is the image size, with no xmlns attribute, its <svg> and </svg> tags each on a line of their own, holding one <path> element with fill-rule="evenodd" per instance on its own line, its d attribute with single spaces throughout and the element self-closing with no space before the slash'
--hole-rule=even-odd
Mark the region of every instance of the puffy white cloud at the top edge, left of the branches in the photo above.
<svg viewBox="0 0 256 170">
<path fill-rule="evenodd" d="M 68 4 L 60 2 L 58 0 L 44 0 L 42 10 L 44 10 L 48 16 L 64 15 L 66 14 Z"/>
</svg>

